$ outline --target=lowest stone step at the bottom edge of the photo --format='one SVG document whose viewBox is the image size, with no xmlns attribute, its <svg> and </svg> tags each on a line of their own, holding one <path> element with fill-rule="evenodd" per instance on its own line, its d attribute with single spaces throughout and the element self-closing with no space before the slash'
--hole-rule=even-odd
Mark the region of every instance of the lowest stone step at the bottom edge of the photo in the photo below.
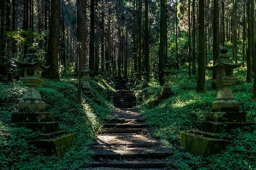
<svg viewBox="0 0 256 170">
<path fill-rule="evenodd" d="M 166 160 L 149 160 L 149 161 L 106 161 L 106 162 L 91 162 L 90 167 L 113 167 L 113 168 L 164 168 L 170 162 Z"/>
</svg>

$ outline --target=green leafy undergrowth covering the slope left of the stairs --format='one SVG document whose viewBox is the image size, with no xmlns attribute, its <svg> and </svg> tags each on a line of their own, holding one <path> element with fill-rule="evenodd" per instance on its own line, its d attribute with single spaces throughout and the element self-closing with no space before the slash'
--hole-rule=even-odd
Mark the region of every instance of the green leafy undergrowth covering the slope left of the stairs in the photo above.
<svg viewBox="0 0 256 170">
<path fill-rule="evenodd" d="M 77 101 L 76 79 L 44 80 L 39 92 L 52 113 L 52 121 L 59 121 L 59 129 L 75 134 L 75 142 L 63 159 L 44 156 L 43 150 L 27 141 L 40 133 L 15 128 L 11 112 L 18 110 L 18 102 L 26 90 L 22 82 L 0 86 L 0 169 L 79 169 L 89 163 L 93 153 L 88 150 L 101 125 L 110 118 L 113 105 L 108 101 L 113 84 L 90 82 L 98 105 L 87 96 Z"/>
</svg>

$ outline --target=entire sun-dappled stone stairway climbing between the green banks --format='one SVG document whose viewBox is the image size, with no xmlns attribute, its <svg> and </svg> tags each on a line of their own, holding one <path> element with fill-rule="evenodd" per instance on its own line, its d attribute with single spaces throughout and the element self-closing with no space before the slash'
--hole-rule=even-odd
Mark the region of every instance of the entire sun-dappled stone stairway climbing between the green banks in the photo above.
<svg viewBox="0 0 256 170">
<path fill-rule="evenodd" d="M 171 156 L 167 148 L 146 134 L 147 125 L 141 118 L 134 92 L 126 81 L 115 84 L 113 120 L 104 125 L 104 134 L 97 137 L 90 167 L 163 168 Z"/>
</svg>

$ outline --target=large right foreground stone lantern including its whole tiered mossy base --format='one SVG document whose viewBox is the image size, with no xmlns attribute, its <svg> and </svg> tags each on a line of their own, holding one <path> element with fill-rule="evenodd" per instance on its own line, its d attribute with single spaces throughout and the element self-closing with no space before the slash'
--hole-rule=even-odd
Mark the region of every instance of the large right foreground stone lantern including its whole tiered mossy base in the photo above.
<svg viewBox="0 0 256 170">
<path fill-rule="evenodd" d="M 181 146 L 195 156 L 216 154 L 226 148 L 227 140 L 218 138 L 218 133 L 229 132 L 231 129 L 243 128 L 255 124 L 246 122 L 246 113 L 240 112 L 239 102 L 234 100 L 230 86 L 236 82 L 233 69 L 243 63 L 233 63 L 227 54 L 228 49 L 221 49 L 221 56 L 209 70 L 217 71 L 217 78 L 213 80 L 220 88 L 216 101 L 212 103 L 212 112 L 206 113 L 206 122 L 199 122 L 199 130 L 190 130 L 180 134 Z"/>
</svg>

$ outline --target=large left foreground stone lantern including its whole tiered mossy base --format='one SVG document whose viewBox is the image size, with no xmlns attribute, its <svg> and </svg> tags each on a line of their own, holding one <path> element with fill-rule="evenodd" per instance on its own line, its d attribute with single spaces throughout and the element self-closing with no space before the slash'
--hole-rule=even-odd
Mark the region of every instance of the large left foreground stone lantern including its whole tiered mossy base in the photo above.
<svg viewBox="0 0 256 170">
<path fill-rule="evenodd" d="M 59 122 L 51 121 L 51 112 L 46 112 L 46 104 L 39 94 L 38 87 L 43 83 L 40 71 L 47 70 L 49 66 L 42 65 L 35 54 L 36 51 L 34 47 L 30 47 L 23 62 L 15 61 L 17 66 L 24 68 L 24 77 L 20 80 L 27 86 L 27 91 L 22 101 L 19 102 L 19 111 L 12 114 L 11 121 L 15 122 L 17 127 L 44 133 L 31 143 L 36 147 L 46 149 L 48 155 L 62 158 L 72 146 L 75 135 L 57 131 Z"/>
</svg>

